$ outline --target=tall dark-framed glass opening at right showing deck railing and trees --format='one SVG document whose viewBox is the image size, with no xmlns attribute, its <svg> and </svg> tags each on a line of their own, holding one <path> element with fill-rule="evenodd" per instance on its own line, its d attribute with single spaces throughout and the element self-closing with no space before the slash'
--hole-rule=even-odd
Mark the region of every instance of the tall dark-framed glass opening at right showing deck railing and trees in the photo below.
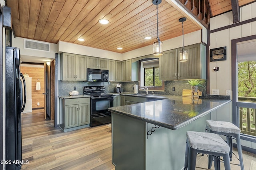
<svg viewBox="0 0 256 170">
<path fill-rule="evenodd" d="M 233 123 L 256 139 L 256 35 L 232 40 Z"/>
</svg>

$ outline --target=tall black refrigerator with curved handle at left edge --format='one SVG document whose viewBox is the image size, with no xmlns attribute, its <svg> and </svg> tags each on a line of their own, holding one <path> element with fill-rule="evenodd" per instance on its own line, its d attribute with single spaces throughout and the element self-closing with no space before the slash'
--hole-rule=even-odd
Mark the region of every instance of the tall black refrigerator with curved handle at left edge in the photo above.
<svg viewBox="0 0 256 170">
<path fill-rule="evenodd" d="M 22 81 L 23 80 L 23 81 Z M 22 92 L 24 90 L 24 99 Z M 20 72 L 20 49 L 6 47 L 6 169 L 22 165 L 21 113 L 26 102 L 26 83 Z"/>
</svg>

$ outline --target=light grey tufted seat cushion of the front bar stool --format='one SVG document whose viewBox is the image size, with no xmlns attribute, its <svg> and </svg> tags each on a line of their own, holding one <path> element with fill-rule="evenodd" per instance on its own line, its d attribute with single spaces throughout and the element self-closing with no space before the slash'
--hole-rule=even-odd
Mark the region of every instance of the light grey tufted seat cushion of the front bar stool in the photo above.
<svg viewBox="0 0 256 170">
<path fill-rule="evenodd" d="M 187 140 L 191 148 L 197 150 L 207 150 L 228 154 L 229 146 L 223 139 L 215 133 L 187 131 Z"/>
</svg>

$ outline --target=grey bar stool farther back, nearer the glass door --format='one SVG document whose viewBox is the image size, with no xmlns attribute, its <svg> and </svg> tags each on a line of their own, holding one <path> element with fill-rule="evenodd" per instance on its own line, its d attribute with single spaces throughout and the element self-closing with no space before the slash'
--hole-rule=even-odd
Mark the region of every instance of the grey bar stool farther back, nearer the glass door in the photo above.
<svg viewBox="0 0 256 170">
<path fill-rule="evenodd" d="M 225 135 L 227 144 L 230 147 L 229 157 L 232 160 L 232 137 L 236 138 L 237 150 L 239 155 L 240 167 L 241 170 L 244 170 L 244 163 L 242 157 L 242 146 L 240 140 L 240 132 L 241 130 L 231 122 L 226 121 L 213 121 L 213 120 L 206 120 L 206 130 L 210 133 L 216 133 L 219 135 Z M 209 163 L 208 168 L 210 169 L 212 166 L 212 156 L 209 156 Z"/>
</svg>

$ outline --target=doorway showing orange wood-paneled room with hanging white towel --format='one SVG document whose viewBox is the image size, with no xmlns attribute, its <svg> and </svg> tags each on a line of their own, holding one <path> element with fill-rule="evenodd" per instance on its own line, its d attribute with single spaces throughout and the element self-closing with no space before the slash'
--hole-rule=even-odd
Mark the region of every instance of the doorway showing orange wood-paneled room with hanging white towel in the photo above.
<svg viewBox="0 0 256 170">
<path fill-rule="evenodd" d="M 30 111 L 43 109 L 46 113 L 45 119 L 54 120 L 55 102 L 51 94 L 55 94 L 55 59 L 48 59 L 48 61 L 48 64 L 22 62 L 20 70 L 32 78 L 32 102 L 30 102 L 32 109 Z"/>
</svg>

